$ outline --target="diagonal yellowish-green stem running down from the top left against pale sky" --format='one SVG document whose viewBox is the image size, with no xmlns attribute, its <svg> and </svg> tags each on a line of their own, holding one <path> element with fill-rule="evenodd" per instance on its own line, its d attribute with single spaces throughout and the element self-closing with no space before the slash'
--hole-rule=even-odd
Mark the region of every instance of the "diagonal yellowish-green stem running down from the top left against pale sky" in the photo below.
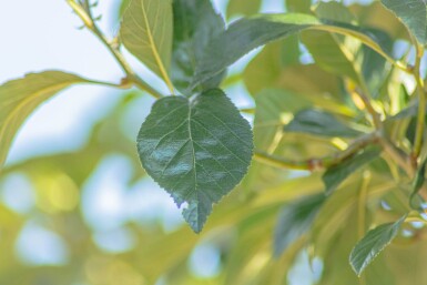
<svg viewBox="0 0 427 285">
<path fill-rule="evenodd" d="M 114 57 L 119 65 L 126 73 L 126 80 L 134 84 L 135 86 L 146 91 L 149 94 L 154 96 L 155 99 L 160 99 L 163 95 L 155 89 L 153 89 L 149 83 L 146 83 L 143 79 L 141 79 L 129 65 L 120 50 L 113 47 L 105 35 L 101 32 L 99 27 L 95 24 L 93 20 L 91 8 L 89 0 L 84 0 L 84 6 L 75 2 L 75 0 L 67 0 L 69 6 L 73 9 L 73 11 L 79 16 L 79 18 L 83 21 L 84 26 L 94 34 L 96 38 L 106 47 L 110 53 Z"/>
</svg>

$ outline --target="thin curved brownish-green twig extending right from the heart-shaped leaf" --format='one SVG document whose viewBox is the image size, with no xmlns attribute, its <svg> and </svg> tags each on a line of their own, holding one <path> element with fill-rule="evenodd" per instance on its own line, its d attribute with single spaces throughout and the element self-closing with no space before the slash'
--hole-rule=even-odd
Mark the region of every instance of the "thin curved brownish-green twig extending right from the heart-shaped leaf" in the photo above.
<svg viewBox="0 0 427 285">
<path fill-rule="evenodd" d="M 254 159 L 271 166 L 281 169 L 316 171 L 336 165 L 353 156 L 360 150 L 365 149 L 367 145 L 376 144 L 378 142 L 378 132 L 374 132 L 360 136 L 359 139 L 355 140 L 346 150 L 335 153 L 332 156 L 309 159 L 306 161 L 293 161 L 279 157 L 277 155 L 268 154 L 266 152 L 255 151 Z"/>
</svg>

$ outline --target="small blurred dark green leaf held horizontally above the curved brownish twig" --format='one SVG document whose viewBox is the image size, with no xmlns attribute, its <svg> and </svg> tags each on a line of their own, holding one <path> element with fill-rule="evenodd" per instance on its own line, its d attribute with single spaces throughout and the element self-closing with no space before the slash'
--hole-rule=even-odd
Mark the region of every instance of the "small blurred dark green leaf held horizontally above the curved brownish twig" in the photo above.
<svg viewBox="0 0 427 285">
<path fill-rule="evenodd" d="M 360 132 L 339 122 L 332 113 L 316 109 L 306 109 L 298 112 L 284 130 L 286 132 L 309 133 L 322 136 L 353 138 L 360 134 Z"/>
</svg>

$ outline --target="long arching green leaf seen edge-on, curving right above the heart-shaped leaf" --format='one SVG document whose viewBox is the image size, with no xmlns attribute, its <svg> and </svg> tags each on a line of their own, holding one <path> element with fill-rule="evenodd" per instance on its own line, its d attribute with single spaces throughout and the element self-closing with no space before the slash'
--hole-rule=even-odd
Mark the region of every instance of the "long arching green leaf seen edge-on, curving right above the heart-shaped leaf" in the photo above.
<svg viewBox="0 0 427 285">
<path fill-rule="evenodd" d="M 258 14 L 232 23 L 224 33 L 209 44 L 192 86 L 218 74 L 251 50 L 306 29 L 352 35 L 395 62 L 373 34 L 364 33 L 357 27 L 331 21 L 322 22 L 309 14 Z"/>
</svg>

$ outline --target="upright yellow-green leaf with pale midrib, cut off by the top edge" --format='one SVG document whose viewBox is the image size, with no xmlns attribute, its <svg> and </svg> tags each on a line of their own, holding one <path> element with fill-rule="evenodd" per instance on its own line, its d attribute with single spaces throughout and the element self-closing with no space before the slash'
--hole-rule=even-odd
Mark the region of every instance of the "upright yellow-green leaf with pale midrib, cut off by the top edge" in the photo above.
<svg viewBox="0 0 427 285">
<path fill-rule="evenodd" d="M 131 0 L 120 38 L 124 47 L 173 91 L 167 70 L 172 53 L 172 0 Z"/>
</svg>

